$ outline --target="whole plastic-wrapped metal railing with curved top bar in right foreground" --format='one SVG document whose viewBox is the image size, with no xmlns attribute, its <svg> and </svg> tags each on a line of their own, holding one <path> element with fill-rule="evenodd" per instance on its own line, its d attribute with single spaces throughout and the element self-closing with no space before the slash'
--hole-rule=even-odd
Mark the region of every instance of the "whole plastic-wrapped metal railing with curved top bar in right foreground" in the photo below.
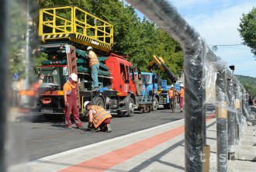
<svg viewBox="0 0 256 172">
<path fill-rule="evenodd" d="M 206 80 L 216 85 L 217 169 L 227 171 L 227 159 L 234 160 L 234 146 L 246 126 L 247 92 L 227 65 L 216 57 L 199 33 L 182 19 L 166 0 L 126 0 L 180 43 L 185 73 L 185 170 L 209 171 L 206 144 Z M 213 94 L 213 90 L 210 91 Z M 235 93 L 235 94 L 233 94 Z"/>
</svg>

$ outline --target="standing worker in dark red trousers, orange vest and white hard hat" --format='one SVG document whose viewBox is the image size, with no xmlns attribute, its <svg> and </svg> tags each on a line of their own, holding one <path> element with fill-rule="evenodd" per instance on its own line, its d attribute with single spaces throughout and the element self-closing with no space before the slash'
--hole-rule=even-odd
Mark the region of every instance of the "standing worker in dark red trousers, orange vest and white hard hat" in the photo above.
<svg viewBox="0 0 256 172">
<path fill-rule="evenodd" d="M 71 112 L 74 117 L 74 122 L 77 128 L 81 128 L 82 123 L 79 119 L 78 102 L 77 102 L 77 84 L 78 75 L 72 73 L 69 80 L 63 86 L 64 103 L 65 103 L 65 124 L 68 129 L 71 129 Z"/>
</svg>

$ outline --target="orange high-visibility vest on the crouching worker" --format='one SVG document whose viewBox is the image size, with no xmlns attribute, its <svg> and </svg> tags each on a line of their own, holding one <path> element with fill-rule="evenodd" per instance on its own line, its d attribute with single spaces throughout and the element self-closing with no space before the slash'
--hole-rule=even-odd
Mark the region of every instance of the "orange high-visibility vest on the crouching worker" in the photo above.
<svg viewBox="0 0 256 172">
<path fill-rule="evenodd" d="M 101 106 L 92 105 L 92 109 L 96 111 L 96 113 L 93 114 L 93 118 L 92 118 L 92 123 L 95 129 L 97 129 L 99 125 L 101 125 L 101 123 L 105 121 L 105 119 L 112 118 L 112 115 Z"/>
</svg>

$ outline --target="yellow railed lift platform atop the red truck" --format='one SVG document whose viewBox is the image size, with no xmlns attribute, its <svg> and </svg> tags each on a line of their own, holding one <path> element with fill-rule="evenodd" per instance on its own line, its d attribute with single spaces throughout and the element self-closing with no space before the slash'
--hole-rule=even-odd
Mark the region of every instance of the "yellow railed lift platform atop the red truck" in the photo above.
<svg viewBox="0 0 256 172">
<path fill-rule="evenodd" d="M 113 26 L 76 6 L 40 9 L 39 35 L 43 43 L 70 40 L 109 52 Z"/>
</svg>

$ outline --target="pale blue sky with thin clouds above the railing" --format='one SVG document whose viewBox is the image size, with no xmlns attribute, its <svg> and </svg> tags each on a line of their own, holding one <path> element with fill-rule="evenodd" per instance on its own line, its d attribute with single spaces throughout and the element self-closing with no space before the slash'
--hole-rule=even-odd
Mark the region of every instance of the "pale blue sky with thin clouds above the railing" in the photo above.
<svg viewBox="0 0 256 172">
<path fill-rule="evenodd" d="M 249 47 L 240 45 L 240 17 L 256 7 L 256 0 L 168 0 L 200 34 L 216 56 L 235 65 L 234 74 L 256 77 L 256 58 Z M 137 13 L 140 17 L 142 13 Z M 228 45 L 228 46 L 226 46 Z"/>
</svg>

